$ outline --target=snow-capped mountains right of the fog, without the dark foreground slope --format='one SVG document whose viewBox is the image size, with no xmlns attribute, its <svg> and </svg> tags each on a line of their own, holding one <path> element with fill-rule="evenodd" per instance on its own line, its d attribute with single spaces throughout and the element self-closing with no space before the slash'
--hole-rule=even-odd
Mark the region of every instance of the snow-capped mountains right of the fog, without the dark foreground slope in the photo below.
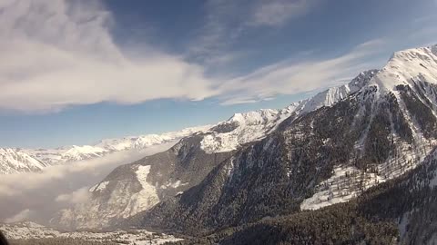
<svg viewBox="0 0 437 245">
<path fill-rule="evenodd" d="M 281 110 L 237 113 L 120 166 L 52 224 L 129 218 L 191 232 L 350 201 L 420 165 L 437 142 L 436 115 L 437 47 L 398 52 L 351 83 Z"/>
</svg>

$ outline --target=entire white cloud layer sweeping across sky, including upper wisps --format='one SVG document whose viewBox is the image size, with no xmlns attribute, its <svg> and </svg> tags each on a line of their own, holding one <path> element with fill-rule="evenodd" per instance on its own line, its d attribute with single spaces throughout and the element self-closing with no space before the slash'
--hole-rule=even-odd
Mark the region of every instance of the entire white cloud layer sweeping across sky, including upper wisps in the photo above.
<svg viewBox="0 0 437 245">
<path fill-rule="evenodd" d="M 98 1 L 2 1 L 0 110 L 44 113 L 81 104 L 211 97 L 223 104 L 254 103 L 324 88 L 374 68 L 366 61 L 381 43 L 361 44 L 337 57 L 281 61 L 231 79 L 227 73 L 206 75 L 211 67 L 245 57 L 229 50 L 241 34 L 284 25 L 321 1 L 209 0 L 206 24 L 188 54 L 180 55 L 148 44 L 141 44 L 141 50 L 120 47 L 111 35 L 115 20 Z M 430 26 L 402 40 L 419 35 L 432 40 L 435 28 Z"/>
</svg>

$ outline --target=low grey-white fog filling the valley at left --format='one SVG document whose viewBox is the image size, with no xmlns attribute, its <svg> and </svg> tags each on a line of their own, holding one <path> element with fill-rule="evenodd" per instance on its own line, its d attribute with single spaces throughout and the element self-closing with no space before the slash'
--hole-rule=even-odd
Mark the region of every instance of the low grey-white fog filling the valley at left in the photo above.
<svg viewBox="0 0 437 245">
<path fill-rule="evenodd" d="M 0 176 L 0 221 L 48 223 L 57 211 L 86 201 L 88 189 L 117 166 L 168 150 L 175 142 L 141 152 L 115 152 L 102 158 L 47 167 L 42 172 Z"/>
</svg>

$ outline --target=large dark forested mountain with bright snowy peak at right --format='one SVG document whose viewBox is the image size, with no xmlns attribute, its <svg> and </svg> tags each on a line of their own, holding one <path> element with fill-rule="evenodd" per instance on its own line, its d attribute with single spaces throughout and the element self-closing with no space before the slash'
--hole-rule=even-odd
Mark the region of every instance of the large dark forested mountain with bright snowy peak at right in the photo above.
<svg viewBox="0 0 437 245">
<path fill-rule="evenodd" d="M 196 234 L 349 201 L 401 176 L 436 142 L 436 68 L 435 47 L 393 55 L 346 99 L 283 121 L 131 222 Z"/>
</svg>

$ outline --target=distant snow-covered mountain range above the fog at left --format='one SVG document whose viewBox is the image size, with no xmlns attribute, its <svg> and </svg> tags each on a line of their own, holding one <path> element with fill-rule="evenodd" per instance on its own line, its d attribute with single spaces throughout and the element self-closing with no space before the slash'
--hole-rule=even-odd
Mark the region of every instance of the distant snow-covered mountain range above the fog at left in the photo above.
<svg viewBox="0 0 437 245">
<path fill-rule="evenodd" d="M 110 152 L 141 151 L 150 146 L 178 141 L 208 128 L 210 125 L 186 128 L 177 132 L 107 139 L 94 145 L 73 145 L 56 149 L 0 148 L 0 174 L 41 171 L 47 166 L 97 158 Z"/>
</svg>

